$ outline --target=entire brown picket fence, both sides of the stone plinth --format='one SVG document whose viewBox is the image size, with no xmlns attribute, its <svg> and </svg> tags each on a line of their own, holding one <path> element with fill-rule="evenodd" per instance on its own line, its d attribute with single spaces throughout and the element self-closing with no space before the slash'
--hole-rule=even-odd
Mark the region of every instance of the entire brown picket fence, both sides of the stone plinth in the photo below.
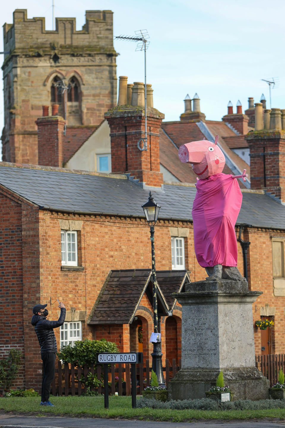
<svg viewBox="0 0 285 428">
<path fill-rule="evenodd" d="M 165 378 L 166 386 L 169 380 L 175 376 L 176 372 L 181 369 L 181 360 L 179 360 L 179 366 L 176 366 L 176 360 L 171 361 L 165 360 L 165 367 L 163 367 L 163 374 Z M 270 386 L 278 381 L 279 369 L 282 369 L 285 373 L 285 354 L 268 354 L 268 355 L 256 355 L 256 367 L 267 377 L 270 381 Z M 83 369 L 80 367 L 74 367 L 74 364 L 62 364 L 58 362 L 56 368 L 56 375 L 51 385 L 51 393 L 53 395 L 81 395 L 86 393 L 87 386 L 81 381 L 82 375 L 87 379 L 88 373 L 94 375 L 97 374 L 97 379 L 101 379 L 103 369 L 98 364 L 97 366 L 88 367 L 84 366 Z M 131 394 L 131 375 L 130 375 L 130 364 L 112 364 L 108 369 L 109 372 L 109 393 L 118 395 L 130 395 Z M 150 385 L 150 372 L 151 365 L 150 360 L 145 360 L 143 363 L 137 364 L 137 394 L 140 394 L 145 386 Z M 118 379 L 115 379 L 118 377 Z M 122 381 L 124 380 L 124 381 Z M 103 393 L 103 387 L 98 388 L 91 387 L 91 391 L 96 391 L 98 394 Z"/>
</svg>

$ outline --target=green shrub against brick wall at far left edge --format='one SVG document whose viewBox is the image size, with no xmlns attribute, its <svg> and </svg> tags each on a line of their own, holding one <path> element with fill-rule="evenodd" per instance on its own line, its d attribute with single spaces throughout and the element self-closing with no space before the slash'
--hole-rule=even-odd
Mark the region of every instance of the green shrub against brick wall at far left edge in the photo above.
<svg viewBox="0 0 285 428">
<path fill-rule="evenodd" d="M 18 349 L 10 349 L 8 357 L 0 360 L 0 389 L 6 391 L 17 377 L 22 353 Z"/>
</svg>

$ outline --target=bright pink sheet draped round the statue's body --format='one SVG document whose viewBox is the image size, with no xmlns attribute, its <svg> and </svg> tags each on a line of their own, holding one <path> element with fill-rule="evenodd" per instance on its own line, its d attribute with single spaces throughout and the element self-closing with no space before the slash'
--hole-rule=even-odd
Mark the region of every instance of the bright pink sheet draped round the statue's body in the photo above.
<svg viewBox="0 0 285 428">
<path fill-rule="evenodd" d="M 194 248 L 203 268 L 236 266 L 238 246 L 235 223 L 242 194 L 236 178 L 215 174 L 197 181 L 193 202 Z"/>
</svg>

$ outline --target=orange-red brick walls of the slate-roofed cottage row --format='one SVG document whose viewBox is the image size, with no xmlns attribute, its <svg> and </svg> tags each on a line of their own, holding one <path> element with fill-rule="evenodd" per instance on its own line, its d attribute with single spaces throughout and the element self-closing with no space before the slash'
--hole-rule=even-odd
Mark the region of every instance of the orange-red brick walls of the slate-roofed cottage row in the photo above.
<svg viewBox="0 0 285 428">
<path fill-rule="evenodd" d="M 11 197 L 6 196 L 2 191 L 1 197 L 5 198 L 4 203 L 0 204 L 3 214 L 1 215 L 1 231 L 8 227 L 6 233 L 9 234 L 9 246 L 15 236 L 20 241 L 16 242 L 12 248 L 9 248 L 9 257 L 6 253 L 6 259 L 3 259 L 2 278 L 3 286 L 8 281 L 15 282 L 17 285 L 17 294 L 23 284 L 23 318 L 20 315 L 20 321 L 24 325 L 24 350 L 25 350 L 25 386 L 34 386 L 37 389 L 41 384 L 41 358 L 40 348 L 30 324 L 32 318 L 32 307 L 35 303 L 48 303 L 49 319 L 58 318 L 58 307 L 54 303 L 56 298 L 63 301 L 67 311 L 71 306 L 77 310 L 86 311 L 87 316 L 97 299 L 98 293 L 108 275 L 110 269 L 141 269 L 150 268 L 150 239 L 149 227 L 145 225 L 143 219 L 125 218 L 115 216 L 99 215 L 75 215 L 50 212 L 46 210 L 38 211 L 38 208 L 21 202 L 15 202 Z M 8 204 L 8 205 L 7 205 Z M 18 204 L 18 205 L 17 205 Z M 7 207 L 7 208 L 4 208 Z M 9 215 L 9 218 L 8 218 Z M 11 217 L 12 216 L 12 217 Z M 11 226 L 11 221 L 13 224 Z M 82 247 L 82 266 L 83 271 L 64 271 L 61 270 L 61 252 L 60 252 L 60 220 L 79 220 L 82 221 L 80 233 L 78 233 L 79 246 Z M 20 229 L 15 229 L 14 225 L 19 225 Z M 206 272 L 197 264 L 194 254 L 193 243 L 193 225 L 190 222 L 165 221 L 159 220 L 155 229 L 156 246 L 156 268 L 158 270 L 171 269 L 171 246 L 169 227 L 183 227 L 189 230 L 188 238 L 185 238 L 185 268 L 188 269 L 191 281 L 197 281 L 206 277 Z M 14 231 L 14 232 L 12 232 Z M 238 229 L 236 229 L 238 234 Z M 265 229 L 246 229 L 241 235 L 243 239 L 249 239 L 251 242 L 248 251 L 248 265 L 250 273 L 250 288 L 252 290 L 262 290 L 262 294 L 253 304 L 253 321 L 260 318 L 260 308 L 266 303 L 275 308 L 275 328 L 274 328 L 274 352 L 285 352 L 283 341 L 284 325 L 284 307 L 285 297 L 275 297 L 273 295 L 272 283 L 272 259 L 271 259 L 271 236 L 277 234 L 284 236 L 284 231 L 272 231 Z M 21 247 L 22 240 L 22 247 Z M 20 244 L 19 244 L 20 243 Z M 3 248 L 3 244 L 2 244 Z M 12 252 L 11 252 L 12 250 Z M 6 250 L 7 251 L 7 250 Z M 23 254 L 21 261 L 21 253 Z M 268 257 L 262 258 L 260 254 L 268 253 Z M 3 253 L 2 253 L 3 254 Z M 11 254 L 15 258 L 11 257 Z M 17 263 L 17 269 L 11 265 L 11 261 L 20 257 Z M 1 259 L 2 260 L 2 259 Z M 13 262 L 14 263 L 14 262 Z M 15 262 L 16 263 L 16 262 Z M 6 270 L 8 267 L 8 270 Z M 243 273 L 243 259 L 241 245 L 238 243 L 238 268 Z M 14 278 L 15 270 L 15 279 Z M 7 273 L 8 272 L 8 273 Z M 12 275 L 13 273 L 13 275 Z M 6 276 L 10 275 L 10 276 Z M 10 288 L 9 288 L 10 290 Z M 5 291 L 4 291 L 5 292 Z M 9 291 L 10 292 L 10 291 Z M 13 295 L 15 292 L 13 292 Z M 18 297 L 18 296 L 17 296 Z M 52 303 L 52 305 L 50 305 Z M 15 304 L 11 302 L 10 304 Z M 176 336 L 177 336 L 177 358 L 179 358 L 181 335 L 181 323 L 179 306 L 173 312 L 176 317 Z M 2 310 L 1 316 L 4 320 L 6 309 Z M 147 296 L 144 295 L 135 316 L 142 323 L 143 327 L 143 351 L 144 358 L 151 357 L 152 345 L 149 344 L 150 333 L 153 330 L 152 305 Z M 15 324 L 16 336 L 13 330 L 7 330 L 7 340 L 12 344 L 15 336 L 15 344 L 23 343 L 23 332 L 20 330 L 21 323 L 13 319 Z M 5 322 L 5 321 L 4 321 Z M 233 320 L 234 322 L 234 320 Z M 19 328 L 17 328 L 19 326 Z M 129 324 L 110 325 L 92 327 L 85 322 L 82 323 L 82 339 L 100 339 L 105 337 L 117 343 L 120 351 L 130 350 L 130 341 L 133 339 L 133 332 Z M 110 327 L 110 334 L 109 334 Z M 170 332 L 167 338 L 167 330 Z M 173 343 L 176 341 L 175 328 L 173 321 L 168 318 L 162 318 L 162 352 L 163 360 L 165 357 L 172 356 L 174 352 Z M 56 339 L 59 345 L 59 329 L 55 330 Z M 17 336 L 18 335 L 18 336 Z M 121 338 L 120 338 L 121 335 Z M 17 339 L 18 337 L 18 339 Z M 256 351 L 259 351 L 260 331 L 255 330 Z M 169 341 L 169 343 L 167 342 Z M 174 354 L 173 354 L 174 355 Z M 175 356 L 176 358 L 176 356 Z M 22 370 L 21 372 L 24 375 Z"/>
</svg>

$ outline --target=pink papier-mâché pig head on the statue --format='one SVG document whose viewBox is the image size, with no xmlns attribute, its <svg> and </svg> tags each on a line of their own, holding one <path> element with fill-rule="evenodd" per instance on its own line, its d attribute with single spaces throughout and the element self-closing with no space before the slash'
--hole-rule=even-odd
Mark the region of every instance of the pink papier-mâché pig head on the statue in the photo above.
<svg viewBox="0 0 285 428">
<path fill-rule="evenodd" d="M 223 171 L 226 160 L 220 147 L 208 140 L 192 141 L 179 147 L 178 156 L 181 162 L 191 163 L 193 171 L 199 178 L 207 178 Z"/>
</svg>

